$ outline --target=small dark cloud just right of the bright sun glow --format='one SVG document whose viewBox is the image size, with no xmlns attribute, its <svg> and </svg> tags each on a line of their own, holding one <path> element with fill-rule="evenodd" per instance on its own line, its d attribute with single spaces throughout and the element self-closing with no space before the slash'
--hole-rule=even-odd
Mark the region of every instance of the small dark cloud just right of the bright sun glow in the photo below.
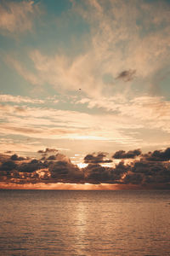
<svg viewBox="0 0 170 256">
<path fill-rule="evenodd" d="M 86 164 L 98 164 L 98 163 L 111 163 L 112 160 L 109 160 L 109 159 L 106 159 L 104 160 L 104 158 L 106 157 L 106 153 L 98 153 L 98 154 L 87 154 L 85 157 L 84 157 L 84 163 Z"/>
</svg>

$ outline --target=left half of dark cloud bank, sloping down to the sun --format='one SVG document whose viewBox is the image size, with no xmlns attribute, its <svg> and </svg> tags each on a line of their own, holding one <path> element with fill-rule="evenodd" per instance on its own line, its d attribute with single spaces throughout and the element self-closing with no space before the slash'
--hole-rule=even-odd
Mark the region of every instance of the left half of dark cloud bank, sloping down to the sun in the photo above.
<svg viewBox="0 0 170 256">
<path fill-rule="evenodd" d="M 48 148 L 49 149 L 49 148 Z M 50 150 L 47 150 L 50 151 Z M 14 154 L 3 156 L 0 165 L 0 180 L 12 183 L 82 183 L 83 173 L 64 154 L 56 154 L 55 160 L 28 160 Z"/>
</svg>

